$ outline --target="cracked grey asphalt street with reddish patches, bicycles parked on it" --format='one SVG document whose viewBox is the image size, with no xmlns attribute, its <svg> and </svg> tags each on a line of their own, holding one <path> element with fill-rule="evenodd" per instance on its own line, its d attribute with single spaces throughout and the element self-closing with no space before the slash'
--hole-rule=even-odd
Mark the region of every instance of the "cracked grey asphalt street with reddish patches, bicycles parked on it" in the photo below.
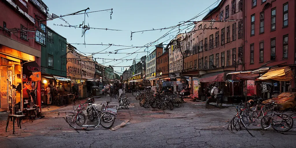
<svg viewBox="0 0 296 148">
<path fill-rule="evenodd" d="M 286 133 L 251 130 L 255 137 L 245 130 L 227 130 L 234 107 L 207 110 L 204 103 L 187 101 L 174 110 L 144 109 L 131 95 L 129 98 L 135 105 L 118 110 L 116 123 L 132 119 L 115 131 L 74 130 L 64 118 L 56 118 L 56 111 L 33 123 L 23 123 L 24 129 L 16 128 L 15 135 L 5 133 L 1 126 L 0 147 L 295 147 L 295 128 Z"/>
</svg>

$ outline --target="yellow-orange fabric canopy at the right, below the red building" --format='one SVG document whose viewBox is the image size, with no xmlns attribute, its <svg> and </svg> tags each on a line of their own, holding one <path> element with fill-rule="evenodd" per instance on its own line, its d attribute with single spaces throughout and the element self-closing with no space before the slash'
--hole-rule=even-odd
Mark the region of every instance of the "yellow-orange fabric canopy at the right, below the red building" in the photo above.
<svg viewBox="0 0 296 148">
<path fill-rule="evenodd" d="M 262 75 L 257 80 L 276 80 L 276 81 L 290 81 L 292 78 L 292 70 L 289 66 L 287 67 L 278 67 L 271 70 L 268 70 L 267 73 Z"/>
</svg>

